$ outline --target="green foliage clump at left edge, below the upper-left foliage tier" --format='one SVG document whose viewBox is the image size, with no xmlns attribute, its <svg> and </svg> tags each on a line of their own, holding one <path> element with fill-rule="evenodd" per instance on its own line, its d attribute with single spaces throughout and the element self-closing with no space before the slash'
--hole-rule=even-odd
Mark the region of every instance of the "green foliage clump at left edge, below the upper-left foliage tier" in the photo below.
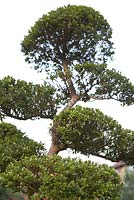
<svg viewBox="0 0 134 200">
<path fill-rule="evenodd" d="M 14 125 L 0 123 L 0 172 L 15 160 L 25 156 L 41 155 L 45 152 L 43 144 L 29 139 Z"/>
</svg>

